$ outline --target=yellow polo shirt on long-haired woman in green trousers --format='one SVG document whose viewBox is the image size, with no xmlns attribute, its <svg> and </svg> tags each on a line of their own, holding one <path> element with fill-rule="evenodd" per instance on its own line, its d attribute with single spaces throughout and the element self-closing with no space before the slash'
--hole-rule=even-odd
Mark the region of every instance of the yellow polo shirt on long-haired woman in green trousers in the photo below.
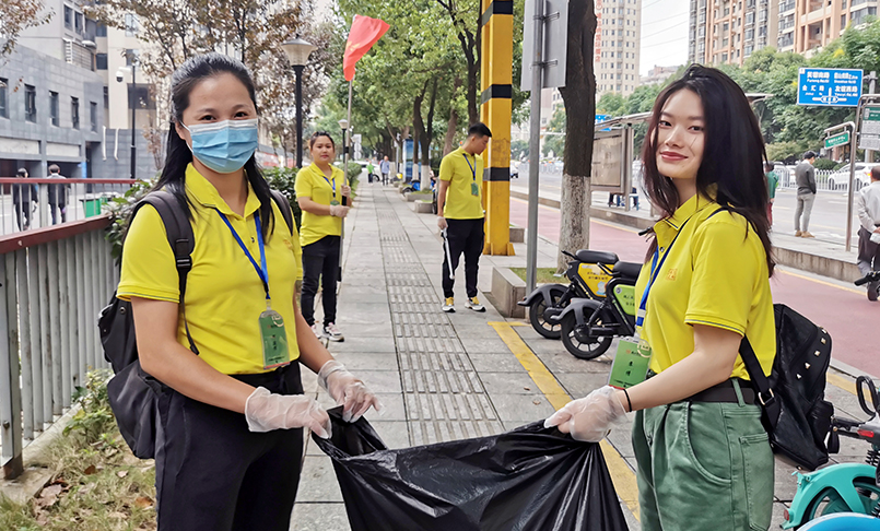
<svg viewBox="0 0 880 531">
<path fill-rule="evenodd" d="M 654 353 L 650 368 L 655 373 L 691 355 L 691 324 L 707 324 L 746 334 L 770 375 L 776 326 L 764 247 L 744 217 L 727 211 L 712 215 L 718 209 L 711 199 L 695 196 L 672 217 L 654 225 L 660 257 L 681 232 L 646 305 L 642 337 Z M 636 304 L 642 302 L 650 262 L 638 276 Z M 737 357 L 730 376 L 750 379 L 741 358 Z"/>
</svg>

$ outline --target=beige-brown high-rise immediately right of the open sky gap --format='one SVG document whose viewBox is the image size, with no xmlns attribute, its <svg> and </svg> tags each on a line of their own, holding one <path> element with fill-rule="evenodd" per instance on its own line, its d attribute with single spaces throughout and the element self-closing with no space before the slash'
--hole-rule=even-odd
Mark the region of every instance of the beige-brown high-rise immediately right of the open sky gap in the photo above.
<svg viewBox="0 0 880 531">
<path fill-rule="evenodd" d="M 754 51 L 775 46 L 779 7 L 779 0 L 691 0 L 689 61 L 742 66 Z"/>
</svg>

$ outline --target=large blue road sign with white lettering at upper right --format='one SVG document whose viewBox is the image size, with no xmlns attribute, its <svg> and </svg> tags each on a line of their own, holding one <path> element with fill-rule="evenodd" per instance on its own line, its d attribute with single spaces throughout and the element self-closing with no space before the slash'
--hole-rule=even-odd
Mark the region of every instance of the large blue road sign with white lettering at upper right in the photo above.
<svg viewBox="0 0 880 531">
<path fill-rule="evenodd" d="M 798 75 L 798 105 L 857 107 L 861 97 L 861 70 L 801 68 Z"/>
</svg>

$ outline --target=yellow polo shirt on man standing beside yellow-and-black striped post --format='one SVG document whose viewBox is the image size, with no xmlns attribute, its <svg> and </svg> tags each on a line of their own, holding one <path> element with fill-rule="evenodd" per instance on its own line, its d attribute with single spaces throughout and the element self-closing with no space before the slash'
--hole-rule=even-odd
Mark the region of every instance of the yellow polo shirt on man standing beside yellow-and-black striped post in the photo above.
<svg viewBox="0 0 880 531">
<path fill-rule="evenodd" d="M 468 155 L 461 148 L 441 161 L 441 180 L 449 182 L 443 216 L 449 220 L 480 220 L 483 213 L 483 157 Z M 477 196 L 471 185 L 477 184 Z"/>
</svg>

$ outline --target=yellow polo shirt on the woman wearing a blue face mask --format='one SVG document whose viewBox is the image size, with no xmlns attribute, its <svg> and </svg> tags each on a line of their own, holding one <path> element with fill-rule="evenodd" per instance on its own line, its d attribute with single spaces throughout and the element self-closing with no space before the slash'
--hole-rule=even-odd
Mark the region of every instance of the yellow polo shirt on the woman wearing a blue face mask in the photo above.
<svg viewBox="0 0 880 531">
<path fill-rule="evenodd" d="M 235 241 L 216 208 L 230 220 L 250 255 L 260 262 L 254 216 L 260 201 L 248 186 L 245 216 L 234 213 L 216 188 L 192 165 L 187 167 L 186 192 L 192 212 L 192 270 L 187 275 L 186 317 L 199 354 L 221 373 L 265 373 L 262 339 L 258 318 L 266 310 L 266 291 L 256 269 Z M 288 231 L 281 211 L 272 201 L 274 229 L 266 241 L 269 293 L 272 309 L 281 314 L 288 334 L 291 361 L 300 357 L 296 343 L 294 284 L 302 274 L 302 251 L 296 226 Z M 122 271 L 117 296 L 177 303 L 179 287 L 174 253 L 159 212 L 142 208 L 131 222 L 122 248 Z M 177 341 L 189 347 L 183 315 Z"/>
</svg>

